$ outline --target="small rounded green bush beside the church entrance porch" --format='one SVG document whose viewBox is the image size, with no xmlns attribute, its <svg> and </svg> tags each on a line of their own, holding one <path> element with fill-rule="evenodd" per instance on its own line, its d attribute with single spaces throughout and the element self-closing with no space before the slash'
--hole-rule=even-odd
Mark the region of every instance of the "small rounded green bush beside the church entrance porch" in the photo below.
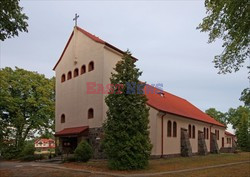
<svg viewBox="0 0 250 177">
<path fill-rule="evenodd" d="M 87 162 L 93 155 L 92 147 L 87 141 L 82 141 L 77 145 L 74 156 L 77 161 Z"/>
</svg>

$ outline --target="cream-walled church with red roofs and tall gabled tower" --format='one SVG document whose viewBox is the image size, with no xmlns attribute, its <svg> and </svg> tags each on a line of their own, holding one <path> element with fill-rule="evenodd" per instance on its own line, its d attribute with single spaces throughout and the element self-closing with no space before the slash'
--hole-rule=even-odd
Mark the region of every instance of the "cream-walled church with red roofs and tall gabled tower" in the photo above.
<svg viewBox="0 0 250 177">
<path fill-rule="evenodd" d="M 94 148 L 94 157 L 104 157 L 100 142 L 108 110 L 104 101 L 107 94 L 90 93 L 88 87 L 97 89 L 98 85 L 109 84 L 111 72 L 123 54 L 110 43 L 74 27 L 53 69 L 56 73 L 55 137 L 62 153 L 73 153 L 81 140 L 87 140 Z M 152 157 L 206 155 L 233 147 L 233 135 L 225 131 L 225 125 L 187 100 L 166 91 L 146 93 L 146 96 Z"/>
</svg>

